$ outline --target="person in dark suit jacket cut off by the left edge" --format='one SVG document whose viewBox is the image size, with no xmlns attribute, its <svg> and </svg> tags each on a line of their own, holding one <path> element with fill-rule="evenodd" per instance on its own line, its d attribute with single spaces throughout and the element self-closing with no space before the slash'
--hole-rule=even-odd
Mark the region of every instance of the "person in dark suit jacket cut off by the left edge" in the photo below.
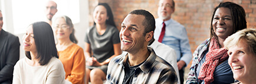
<svg viewBox="0 0 256 84">
<path fill-rule="evenodd" d="M 19 38 L 4 31 L 0 10 L 0 83 L 11 84 L 14 65 L 19 60 Z"/>
</svg>

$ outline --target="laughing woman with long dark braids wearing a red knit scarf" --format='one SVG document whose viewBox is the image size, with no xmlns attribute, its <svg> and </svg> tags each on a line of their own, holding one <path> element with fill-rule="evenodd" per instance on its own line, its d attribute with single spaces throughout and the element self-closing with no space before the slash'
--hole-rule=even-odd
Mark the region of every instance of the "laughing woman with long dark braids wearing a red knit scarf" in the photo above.
<svg viewBox="0 0 256 84">
<path fill-rule="evenodd" d="M 233 2 L 216 6 L 211 21 L 211 38 L 206 39 L 193 53 L 193 62 L 186 83 L 233 83 L 228 65 L 225 39 L 247 28 L 245 11 Z"/>
</svg>

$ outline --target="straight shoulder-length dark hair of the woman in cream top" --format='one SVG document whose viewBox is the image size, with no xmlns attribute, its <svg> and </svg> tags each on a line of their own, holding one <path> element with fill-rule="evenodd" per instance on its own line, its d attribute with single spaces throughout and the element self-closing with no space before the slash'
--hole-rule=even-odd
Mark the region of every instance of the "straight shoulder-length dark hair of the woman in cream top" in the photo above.
<svg viewBox="0 0 256 84">
<path fill-rule="evenodd" d="M 46 65 L 52 57 L 58 58 L 51 25 L 46 22 L 35 22 L 31 25 L 37 48 L 37 56 L 35 58 L 39 59 L 40 65 Z M 28 59 L 31 59 L 29 51 L 26 51 L 25 54 Z"/>
</svg>

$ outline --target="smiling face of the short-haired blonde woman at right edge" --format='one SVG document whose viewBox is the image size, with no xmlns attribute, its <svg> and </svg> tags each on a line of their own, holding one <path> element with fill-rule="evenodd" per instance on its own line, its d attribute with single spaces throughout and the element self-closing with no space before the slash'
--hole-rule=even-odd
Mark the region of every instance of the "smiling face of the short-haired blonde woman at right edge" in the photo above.
<svg viewBox="0 0 256 84">
<path fill-rule="evenodd" d="M 228 55 L 228 64 L 235 79 L 242 82 L 256 75 L 256 56 L 250 51 L 244 39 L 241 39 L 238 45 L 229 48 Z"/>
</svg>

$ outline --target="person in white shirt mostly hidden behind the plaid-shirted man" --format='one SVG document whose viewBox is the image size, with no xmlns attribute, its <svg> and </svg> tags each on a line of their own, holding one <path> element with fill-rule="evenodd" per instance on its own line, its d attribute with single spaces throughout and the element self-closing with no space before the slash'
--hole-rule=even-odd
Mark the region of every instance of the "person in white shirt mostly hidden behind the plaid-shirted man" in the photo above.
<svg viewBox="0 0 256 84">
<path fill-rule="evenodd" d="M 178 76 L 178 83 L 179 82 L 179 69 L 177 66 L 177 57 L 175 50 L 170 48 L 168 45 L 165 45 L 163 43 L 160 43 L 155 40 L 155 38 L 152 38 L 149 41 L 149 46 L 155 51 L 157 56 L 160 56 L 161 58 L 165 59 L 165 61 L 169 62 L 170 65 L 173 66 L 175 69 L 175 72 Z"/>
</svg>

